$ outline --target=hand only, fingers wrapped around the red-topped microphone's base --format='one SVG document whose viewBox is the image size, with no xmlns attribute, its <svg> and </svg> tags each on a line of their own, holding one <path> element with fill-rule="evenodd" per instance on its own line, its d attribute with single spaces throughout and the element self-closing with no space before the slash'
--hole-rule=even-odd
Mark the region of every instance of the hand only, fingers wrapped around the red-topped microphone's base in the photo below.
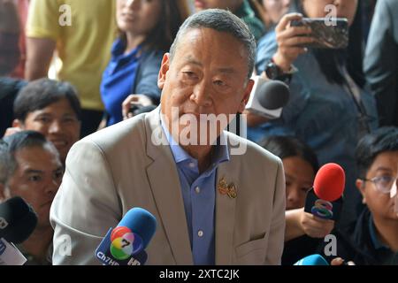
<svg viewBox="0 0 398 283">
<path fill-rule="evenodd" d="M 313 214 L 305 212 L 302 208 L 300 226 L 302 226 L 302 231 L 311 238 L 325 238 L 326 235 L 332 232 L 334 221 L 318 218 Z"/>
</svg>

